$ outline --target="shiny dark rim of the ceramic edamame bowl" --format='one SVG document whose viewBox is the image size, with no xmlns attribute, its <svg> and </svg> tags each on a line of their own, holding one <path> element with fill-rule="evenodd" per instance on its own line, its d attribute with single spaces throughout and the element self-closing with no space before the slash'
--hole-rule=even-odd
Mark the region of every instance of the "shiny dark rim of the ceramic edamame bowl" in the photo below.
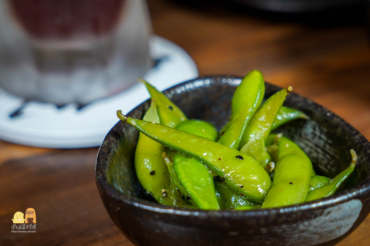
<svg viewBox="0 0 370 246">
<path fill-rule="evenodd" d="M 213 76 L 201 76 L 197 77 L 195 79 L 191 79 L 179 84 L 176 84 L 164 91 L 171 91 L 174 90 L 176 87 L 184 86 L 185 84 L 195 82 L 198 80 L 212 80 L 215 78 L 226 78 L 226 79 L 233 79 L 233 80 L 241 80 L 242 77 L 240 76 L 232 76 L 232 75 L 213 75 Z M 279 88 L 271 83 L 266 82 L 270 86 Z M 349 123 L 344 121 L 344 119 L 340 118 L 338 115 L 334 114 L 332 111 L 328 110 L 327 108 L 314 103 L 312 100 L 300 96 L 299 94 L 295 94 L 296 96 L 306 100 L 309 103 L 314 104 L 315 107 L 321 108 L 323 111 L 326 112 L 326 114 L 330 115 L 332 117 L 331 121 L 337 122 L 342 125 L 342 127 L 346 127 L 350 131 L 350 135 L 354 136 L 356 139 L 356 142 L 359 145 L 364 145 L 365 149 L 370 150 L 370 142 L 359 133 L 354 127 L 352 127 Z M 137 105 L 135 108 L 133 108 L 130 112 L 128 112 L 127 115 L 131 115 L 131 112 L 134 111 L 137 107 L 139 107 L 142 104 L 147 103 L 150 100 L 150 98 L 141 104 Z M 117 124 L 114 125 L 112 129 L 117 127 L 120 121 L 117 122 Z M 178 207 L 171 207 L 166 205 L 161 205 L 156 202 L 147 201 L 142 198 L 134 197 L 131 195 L 125 195 L 121 193 L 120 191 L 116 190 L 111 184 L 108 182 L 106 177 L 104 176 L 104 172 L 102 170 L 102 166 L 104 165 L 104 162 L 107 162 L 107 157 L 109 156 L 110 151 L 112 148 L 108 148 L 108 151 L 105 152 L 103 149 L 106 146 L 110 145 L 109 136 L 111 135 L 112 129 L 108 132 L 108 134 L 105 136 L 104 141 L 102 142 L 98 155 L 96 160 L 96 166 L 95 166 L 95 180 L 97 182 L 97 186 L 100 192 L 108 194 L 111 198 L 113 198 L 116 201 L 122 202 L 122 204 L 131 205 L 140 209 L 145 209 L 148 211 L 153 212 L 160 212 L 160 213 L 168 213 L 168 214 L 177 214 L 182 216 L 202 216 L 202 217 L 208 217 L 208 216 L 218 216 L 218 217 L 235 217 L 235 218 L 243 218 L 243 217 L 251 217 L 251 216 L 266 216 L 266 215 L 273 215 L 273 214 L 292 214 L 296 211 L 307 211 L 310 209 L 315 208 L 327 208 L 332 207 L 335 204 L 343 203 L 349 200 L 352 200 L 356 197 L 360 197 L 363 194 L 369 193 L 370 191 L 370 173 L 366 177 L 366 179 L 359 184 L 357 184 L 354 187 L 348 188 L 346 190 L 340 191 L 334 195 L 331 195 L 326 198 L 321 198 L 319 200 L 314 200 L 310 202 L 304 202 L 296 205 L 290 205 L 286 207 L 276 207 L 276 208 L 258 208 L 258 209 L 250 209 L 250 210 L 201 210 L 201 209 L 189 209 L 189 208 L 178 208 Z"/>
</svg>

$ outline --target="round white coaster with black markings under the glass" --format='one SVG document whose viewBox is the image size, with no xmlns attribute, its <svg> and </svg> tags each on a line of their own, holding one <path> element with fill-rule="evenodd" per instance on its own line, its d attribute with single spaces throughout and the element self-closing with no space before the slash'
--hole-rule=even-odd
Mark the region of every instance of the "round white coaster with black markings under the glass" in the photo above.
<svg viewBox="0 0 370 246">
<path fill-rule="evenodd" d="M 153 59 L 164 58 L 144 76 L 158 90 L 198 76 L 194 61 L 178 45 L 154 36 L 149 46 Z M 118 121 L 116 111 L 121 109 L 127 113 L 148 98 L 145 86 L 137 83 L 120 94 L 94 101 L 80 110 L 73 103 L 58 109 L 51 103 L 30 101 L 24 105 L 21 114 L 9 117 L 24 100 L 0 88 L 0 139 L 46 148 L 100 146 Z"/>
</svg>

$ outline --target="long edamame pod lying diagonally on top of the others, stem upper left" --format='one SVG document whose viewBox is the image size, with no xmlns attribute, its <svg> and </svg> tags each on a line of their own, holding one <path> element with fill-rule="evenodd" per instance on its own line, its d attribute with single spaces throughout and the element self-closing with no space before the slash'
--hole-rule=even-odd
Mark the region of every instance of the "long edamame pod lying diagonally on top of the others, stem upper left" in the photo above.
<svg viewBox="0 0 370 246">
<path fill-rule="evenodd" d="M 178 129 L 127 117 L 121 110 L 117 111 L 117 116 L 149 138 L 205 163 L 218 176 L 225 178 L 231 188 L 249 200 L 262 203 L 265 199 L 271 180 L 263 167 L 252 157 Z"/>
</svg>

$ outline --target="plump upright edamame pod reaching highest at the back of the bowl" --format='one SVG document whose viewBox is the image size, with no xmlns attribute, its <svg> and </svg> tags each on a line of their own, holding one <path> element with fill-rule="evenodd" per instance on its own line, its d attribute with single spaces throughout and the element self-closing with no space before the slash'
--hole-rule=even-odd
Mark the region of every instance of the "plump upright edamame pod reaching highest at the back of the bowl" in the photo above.
<svg viewBox="0 0 370 246">
<path fill-rule="evenodd" d="M 235 90 L 228 128 L 219 138 L 219 143 L 234 149 L 239 148 L 245 128 L 262 103 L 264 95 L 265 81 L 262 74 L 257 70 L 248 73 Z"/>
</svg>

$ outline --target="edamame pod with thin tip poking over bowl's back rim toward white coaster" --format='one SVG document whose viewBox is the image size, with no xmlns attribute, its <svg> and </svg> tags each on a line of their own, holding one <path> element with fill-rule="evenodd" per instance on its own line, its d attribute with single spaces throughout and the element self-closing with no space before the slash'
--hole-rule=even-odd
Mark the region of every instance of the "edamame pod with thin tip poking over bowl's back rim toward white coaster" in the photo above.
<svg viewBox="0 0 370 246">
<path fill-rule="evenodd" d="M 171 100 L 169 100 L 163 93 L 155 89 L 154 86 L 149 84 L 143 79 L 139 79 L 140 82 L 144 83 L 149 91 L 152 99 L 157 102 L 157 109 L 161 124 L 175 127 L 181 121 L 186 121 L 185 114 L 177 107 Z"/>
</svg>

